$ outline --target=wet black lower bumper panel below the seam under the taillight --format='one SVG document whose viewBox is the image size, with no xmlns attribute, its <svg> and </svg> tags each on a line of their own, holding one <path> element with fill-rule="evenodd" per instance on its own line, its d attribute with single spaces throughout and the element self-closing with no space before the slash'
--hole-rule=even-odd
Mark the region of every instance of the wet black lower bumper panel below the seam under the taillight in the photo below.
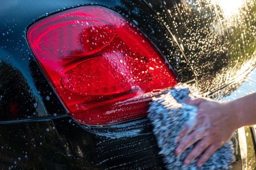
<svg viewBox="0 0 256 170">
<path fill-rule="evenodd" d="M 1 125 L 0 169 L 163 169 L 150 123 L 133 125 L 136 133 L 123 128 L 126 135 L 114 138 L 88 133 L 71 118 Z"/>
</svg>

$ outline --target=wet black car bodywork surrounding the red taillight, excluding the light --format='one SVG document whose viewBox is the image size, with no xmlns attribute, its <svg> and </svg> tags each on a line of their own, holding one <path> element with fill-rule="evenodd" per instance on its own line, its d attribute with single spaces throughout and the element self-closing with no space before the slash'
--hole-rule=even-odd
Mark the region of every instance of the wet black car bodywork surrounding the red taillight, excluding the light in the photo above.
<svg viewBox="0 0 256 170">
<path fill-rule="evenodd" d="M 97 5 L 136 21 L 180 82 L 196 84 L 206 95 L 220 100 L 237 93 L 240 85 L 243 95 L 254 91 L 242 85 L 256 64 L 256 1 L 0 2 L 0 169 L 164 169 L 146 118 L 93 127 L 78 123 L 68 114 L 26 37 L 31 24 L 60 11 Z M 233 11 L 227 12 L 232 5 Z M 247 82 L 255 85 L 253 79 Z M 244 144 L 237 148 L 235 168 L 254 169 L 253 129 L 237 134 L 239 144 Z"/>
</svg>

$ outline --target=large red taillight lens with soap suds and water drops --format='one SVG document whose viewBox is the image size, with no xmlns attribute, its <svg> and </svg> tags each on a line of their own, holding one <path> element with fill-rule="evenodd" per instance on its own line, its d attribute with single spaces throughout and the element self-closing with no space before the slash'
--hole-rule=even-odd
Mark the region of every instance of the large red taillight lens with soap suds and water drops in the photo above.
<svg viewBox="0 0 256 170">
<path fill-rule="evenodd" d="M 146 115 L 139 96 L 177 84 L 151 42 L 124 17 L 84 6 L 46 17 L 28 43 L 72 117 L 105 125 Z"/>
</svg>

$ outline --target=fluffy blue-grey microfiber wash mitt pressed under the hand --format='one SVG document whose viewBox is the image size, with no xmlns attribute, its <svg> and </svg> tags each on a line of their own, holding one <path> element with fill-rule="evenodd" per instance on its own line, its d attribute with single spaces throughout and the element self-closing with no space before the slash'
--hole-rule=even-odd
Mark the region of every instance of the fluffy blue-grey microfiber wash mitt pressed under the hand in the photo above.
<svg viewBox="0 0 256 170">
<path fill-rule="evenodd" d="M 153 124 L 153 132 L 160 148 L 159 154 L 163 155 L 168 170 L 197 170 L 196 162 L 200 156 L 188 166 L 183 164 L 185 156 L 196 144 L 181 155 L 175 155 L 177 135 L 185 124 L 192 127 L 197 121 L 197 107 L 184 103 L 184 100 L 197 96 L 197 90 L 192 87 L 177 85 L 154 97 L 149 108 L 148 117 Z M 229 141 L 219 148 L 200 170 L 229 170 L 234 161 L 233 143 Z"/>
</svg>

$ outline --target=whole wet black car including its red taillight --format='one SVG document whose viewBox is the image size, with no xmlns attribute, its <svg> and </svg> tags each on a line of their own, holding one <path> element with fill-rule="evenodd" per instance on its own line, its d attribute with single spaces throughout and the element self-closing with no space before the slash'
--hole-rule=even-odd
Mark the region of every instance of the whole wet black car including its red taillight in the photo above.
<svg viewBox="0 0 256 170">
<path fill-rule="evenodd" d="M 0 169 L 165 169 L 152 97 L 256 91 L 254 0 L 0 2 Z M 255 128 L 233 141 L 255 169 Z"/>
</svg>

